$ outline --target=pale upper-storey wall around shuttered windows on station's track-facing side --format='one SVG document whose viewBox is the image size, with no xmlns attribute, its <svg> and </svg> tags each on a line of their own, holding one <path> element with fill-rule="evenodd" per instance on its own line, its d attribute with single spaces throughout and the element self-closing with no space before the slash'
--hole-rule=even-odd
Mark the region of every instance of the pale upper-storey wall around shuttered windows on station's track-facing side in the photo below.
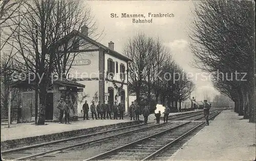
<svg viewBox="0 0 256 161">
<path fill-rule="evenodd" d="M 120 64 L 122 63 L 124 66 L 125 66 L 125 70 L 127 70 L 127 63 L 123 60 L 120 60 L 119 58 L 116 58 L 112 55 L 110 55 L 109 53 L 105 53 L 105 73 L 107 72 L 108 70 L 108 59 L 112 59 L 113 62 L 115 62 L 115 75 L 113 77 L 114 80 L 116 81 L 120 81 L 121 82 L 121 79 L 120 79 Z M 116 62 L 118 62 L 118 72 L 116 72 Z M 125 71 L 126 73 L 126 71 Z M 125 83 L 127 83 L 127 74 L 125 74 Z"/>
</svg>

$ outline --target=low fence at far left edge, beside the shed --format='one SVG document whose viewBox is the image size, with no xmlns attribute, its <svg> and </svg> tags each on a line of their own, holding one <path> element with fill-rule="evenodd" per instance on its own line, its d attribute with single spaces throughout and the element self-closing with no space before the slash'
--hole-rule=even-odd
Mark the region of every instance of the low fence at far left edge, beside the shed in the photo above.
<svg viewBox="0 0 256 161">
<path fill-rule="evenodd" d="M 11 105 L 11 123 L 17 123 L 18 106 Z M 8 124 L 8 108 L 1 105 L 1 124 Z"/>
</svg>

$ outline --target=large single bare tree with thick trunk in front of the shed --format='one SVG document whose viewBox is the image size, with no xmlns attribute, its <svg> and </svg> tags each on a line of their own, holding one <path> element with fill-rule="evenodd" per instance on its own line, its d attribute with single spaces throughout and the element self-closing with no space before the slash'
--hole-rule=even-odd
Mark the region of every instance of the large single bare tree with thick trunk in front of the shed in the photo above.
<svg viewBox="0 0 256 161">
<path fill-rule="evenodd" d="M 59 48 L 64 42 L 66 43 L 60 40 L 72 30 L 79 30 L 82 24 L 86 24 L 82 21 L 84 19 L 76 19 L 86 14 L 76 12 L 81 12 L 80 8 L 77 10 L 75 8 L 79 4 L 82 5 L 81 2 L 64 0 L 28 1 L 22 8 L 27 12 L 25 17 L 15 19 L 15 22 L 20 24 L 18 30 L 13 31 L 15 42 L 18 44 L 16 50 L 19 52 L 16 58 L 20 65 L 18 72 L 24 72 L 29 78 L 31 75 L 35 78 L 32 87 L 38 90 L 40 96 L 38 125 L 45 124 L 46 94 L 49 85 L 52 84 L 53 73 L 62 70 L 63 67 L 58 68 L 58 65 L 67 58 L 63 58 L 65 54 L 59 52 Z M 68 23 L 73 25 L 66 26 Z"/>
</svg>

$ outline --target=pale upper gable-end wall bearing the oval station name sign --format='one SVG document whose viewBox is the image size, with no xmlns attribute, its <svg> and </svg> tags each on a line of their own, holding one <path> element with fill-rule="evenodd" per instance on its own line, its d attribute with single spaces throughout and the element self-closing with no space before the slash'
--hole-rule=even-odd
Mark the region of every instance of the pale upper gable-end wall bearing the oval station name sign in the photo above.
<svg viewBox="0 0 256 161">
<path fill-rule="evenodd" d="M 78 53 L 69 70 L 69 77 L 99 78 L 99 51 Z"/>
</svg>

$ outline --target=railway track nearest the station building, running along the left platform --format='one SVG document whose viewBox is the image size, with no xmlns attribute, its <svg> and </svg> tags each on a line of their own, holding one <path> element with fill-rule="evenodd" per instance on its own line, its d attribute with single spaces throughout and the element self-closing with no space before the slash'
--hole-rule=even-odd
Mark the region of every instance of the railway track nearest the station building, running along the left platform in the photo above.
<svg viewBox="0 0 256 161">
<path fill-rule="evenodd" d="M 186 117 L 191 118 L 191 115 Z M 202 115 L 202 114 L 201 114 Z M 184 118 L 184 116 L 182 116 Z M 180 123 L 176 123 L 180 124 Z M 174 126 L 175 124 L 173 124 Z M 178 125 L 177 125 L 178 126 Z M 46 156 L 51 156 L 57 153 L 62 153 L 70 149 L 74 149 L 82 146 L 91 146 L 91 145 L 101 145 L 106 142 L 115 142 L 115 140 L 122 140 L 129 138 L 132 133 L 145 133 L 147 130 L 147 135 L 156 133 L 156 131 L 163 130 L 169 127 L 169 124 L 154 124 L 153 122 L 148 124 L 140 124 L 127 126 L 118 129 L 112 129 L 108 131 L 96 132 L 90 135 L 83 135 L 79 137 L 73 137 L 69 139 L 58 140 L 49 143 L 37 144 L 32 146 L 27 146 L 23 148 L 17 148 L 7 151 L 2 151 L 2 157 L 5 159 L 12 160 L 32 160 L 38 159 Z M 153 130 L 152 130 L 153 129 Z M 138 138 L 136 138 L 138 139 Z M 129 139 L 128 139 L 129 140 Z M 132 141 L 131 139 L 130 141 Z"/>
</svg>

